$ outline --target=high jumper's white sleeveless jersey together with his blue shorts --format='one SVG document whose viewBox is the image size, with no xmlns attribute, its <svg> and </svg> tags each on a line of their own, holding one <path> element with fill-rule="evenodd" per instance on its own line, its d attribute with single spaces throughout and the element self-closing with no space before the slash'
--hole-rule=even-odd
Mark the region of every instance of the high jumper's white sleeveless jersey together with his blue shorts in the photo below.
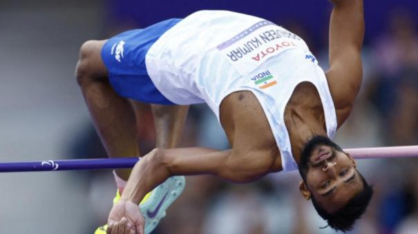
<svg viewBox="0 0 418 234">
<path fill-rule="evenodd" d="M 296 170 L 284 112 L 296 86 L 316 87 L 327 135 L 336 113 L 327 79 L 305 41 L 271 21 L 223 10 L 202 10 L 143 30 L 124 32 L 102 49 L 113 88 L 155 104 L 207 103 L 219 119 L 232 92 L 256 96 L 281 151 L 283 170 Z"/>
</svg>

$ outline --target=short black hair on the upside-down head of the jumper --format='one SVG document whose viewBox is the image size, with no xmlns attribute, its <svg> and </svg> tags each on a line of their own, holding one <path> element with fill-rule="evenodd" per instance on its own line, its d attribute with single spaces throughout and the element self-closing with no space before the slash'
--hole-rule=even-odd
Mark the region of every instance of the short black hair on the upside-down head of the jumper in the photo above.
<svg viewBox="0 0 418 234">
<path fill-rule="evenodd" d="M 321 207 L 319 202 L 316 202 L 315 197 L 312 196 L 312 204 L 318 214 L 327 221 L 328 226 L 335 231 L 351 231 L 354 222 L 358 220 L 370 202 L 373 195 L 373 186 L 365 182 L 364 177 L 359 173 L 363 182 L 363 190 L 348 201 L 343 208 L 334 213 L 328 213 Z"/>
</svg>

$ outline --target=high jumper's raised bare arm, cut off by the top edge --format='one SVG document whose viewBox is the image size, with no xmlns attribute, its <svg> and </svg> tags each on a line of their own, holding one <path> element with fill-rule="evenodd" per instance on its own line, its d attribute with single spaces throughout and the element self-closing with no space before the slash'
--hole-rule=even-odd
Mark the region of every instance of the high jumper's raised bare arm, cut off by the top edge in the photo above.
<svg viewBox="0 0 418 234">
<path fill-rule="evenodd" d="M 341 126 L 350 115 L 363 77 L 363 0 L 330 1 L 334 8 L 330 19 L 330 69 L 326 75 Z"/>
</svg>

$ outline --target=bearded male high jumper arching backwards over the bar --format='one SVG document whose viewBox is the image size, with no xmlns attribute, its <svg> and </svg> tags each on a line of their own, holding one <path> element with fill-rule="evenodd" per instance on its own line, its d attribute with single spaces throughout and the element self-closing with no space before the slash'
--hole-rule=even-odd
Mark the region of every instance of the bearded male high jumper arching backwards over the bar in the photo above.
<svg viewBox="0 0 418 234">
<path fill-rule="evenodd" d="M 328 225 L 352 228 L 372 188 L 330 138 L 350 115 L 361 86 L 363 1 L 331 1 L 325 73 L 300 37 L 265 19 L 228 11 L 199 11 L 84 43 L 77 80 L 108 155 L 139 155 L 137 101 L 151 104 L 158 133 L 157 148 L 130 177 L 129 171 L 116 171 L 124 189 L 107 233 L 144 233 L 144 226 L 149 233 L 184 186 L 177 175 L 247 183 L 297 169 L 303 197 L 312 199 Z M 231 149 L 169 149 L 187 113 L 187 106 L 176 105 L 202 102 L 218 117 Z"/>
</svg>

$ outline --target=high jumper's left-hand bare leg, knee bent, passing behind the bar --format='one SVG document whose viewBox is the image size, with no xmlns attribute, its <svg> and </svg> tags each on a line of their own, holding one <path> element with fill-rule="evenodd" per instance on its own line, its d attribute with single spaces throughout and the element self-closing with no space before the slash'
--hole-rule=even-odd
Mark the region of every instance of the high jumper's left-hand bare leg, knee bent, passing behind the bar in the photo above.
<svg viewBox="0 0 418 234">
<path fill-rule="evenodd" d="M 111 87 L 100 55 L 105 42 L 86 41 L 83 44 L 76 68 L 77 81 L 108 156 L 139 156 L 133 108 Z M 116 173 L 122 179 L 128 179 L 130 170 L 117 170 Z"/>
</svg>

